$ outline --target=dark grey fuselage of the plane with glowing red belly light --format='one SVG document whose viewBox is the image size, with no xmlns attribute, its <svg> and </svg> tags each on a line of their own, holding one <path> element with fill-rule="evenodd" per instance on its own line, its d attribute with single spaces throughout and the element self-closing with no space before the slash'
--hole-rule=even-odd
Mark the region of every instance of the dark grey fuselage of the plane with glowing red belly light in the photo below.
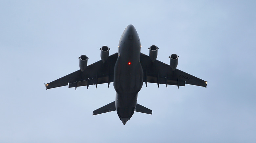
<svg viewBox="0 0 256 143">
<path fill-rule="evenodd" d="M 123 124 L 134 113 L 142 84 L 139 35 L 133 25 L 128 25 L 119 40 L 118 58 L 114 68 L 116 110 Z"/>
</svg>

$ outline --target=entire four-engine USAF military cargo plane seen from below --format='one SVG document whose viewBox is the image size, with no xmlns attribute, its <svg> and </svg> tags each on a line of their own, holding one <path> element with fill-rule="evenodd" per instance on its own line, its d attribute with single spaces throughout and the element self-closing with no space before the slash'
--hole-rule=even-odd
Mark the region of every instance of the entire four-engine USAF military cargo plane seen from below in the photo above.
<svg viewBox="0 0 256 143">
<path fill-rule="evenodd" d="M 101 60 L 87 66 L 88 57 L 79 58 L 79 68 L 73 73 L 45 84 L 46 90 L 55 87 L 80 87 L 113 82 L 116 90 L 115 101 L 93 111 L 93 115 L 117 111 L 123 125 L 131 119 L 134 111 L 152 114 L 152 110 L 137 103 L 138 93 L 143 82 L 185 86 L 185 84 L 205 87 L 207 82 L 177 69 L 178 55 L 169 56 L 167 65 L 157 60 L 158 47 L 150 46 L 149 56 L 140 53 L 139 35 L 133 25 L 128 25 L 118 43 L 118 52 L 109 56 L 110 48 L 100 48 Z"/>
</svg>

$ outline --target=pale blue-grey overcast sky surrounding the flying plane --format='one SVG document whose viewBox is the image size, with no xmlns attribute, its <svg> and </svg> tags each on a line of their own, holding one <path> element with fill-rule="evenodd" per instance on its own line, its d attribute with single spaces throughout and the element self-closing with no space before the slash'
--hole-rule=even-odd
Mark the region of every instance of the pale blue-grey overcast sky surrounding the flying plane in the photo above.
<svg viewBox="0 0 256 143">
<path fill-rule="evenodd" d="M 255 142 L 255 1 L 1 1 L 0 142 Z M 113 83 L 45 90 L 44 83 L 117 52 L 133 24 L 141 52 L 180 56 L 178 69 L 207 88 L 143 84 L 124 126 L 116 112 L 92 116 L 115 100 Z"/>
</svg>

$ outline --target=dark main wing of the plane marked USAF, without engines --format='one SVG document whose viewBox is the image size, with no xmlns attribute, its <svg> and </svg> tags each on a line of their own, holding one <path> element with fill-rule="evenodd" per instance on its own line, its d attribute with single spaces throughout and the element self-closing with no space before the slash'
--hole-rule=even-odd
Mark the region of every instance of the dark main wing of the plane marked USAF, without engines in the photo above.
<svg viewBox="0 0 256 143">
<path fill-rule="evenodd" d="M 167 85 L 176 85 L 185 86 L 185 84 L 196 85 L 205 87 L 207 86 L 207 82 L 197 78 L 193 75 L 190 75 L 181 70 L 175 69 L 172 71 L 171 67 L 159 60 L 151 61 L 149 56 L 140 53 L 140 64 L 142 66 L 144 77 L 143 82 L 147 83 L 157 83 Z"/>
</svg>

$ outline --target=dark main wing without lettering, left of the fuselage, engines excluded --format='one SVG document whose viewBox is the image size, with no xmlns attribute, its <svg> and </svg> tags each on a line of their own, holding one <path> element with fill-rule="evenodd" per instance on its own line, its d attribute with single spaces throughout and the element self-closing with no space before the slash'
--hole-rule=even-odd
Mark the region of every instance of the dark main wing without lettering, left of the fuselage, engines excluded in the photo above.
<svg viewBox="0 0 256 143">
<path fill-rule="evenodd" d="M 82 72 L 81 70 L 70 73 L 57 80 L 54 80 L 45 85 L 46 90 L 55 87 L 69 86 L 80 87 L 89 85 L 96 85 L 102 83 L 109 83 L 114 81 L 114 67 L 117 61 L 117 53 L 108 57 L 103 63 L 101 60 L 87 66 Z"/>
</svg>

